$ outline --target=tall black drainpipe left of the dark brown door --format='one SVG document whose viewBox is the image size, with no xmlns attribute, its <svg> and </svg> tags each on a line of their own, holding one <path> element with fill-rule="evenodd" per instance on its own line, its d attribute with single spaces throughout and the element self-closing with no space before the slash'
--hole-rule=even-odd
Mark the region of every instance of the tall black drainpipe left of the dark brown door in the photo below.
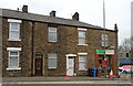
<svg viewBox="0 0 133 86">
<path fill-rule="evenodd" d="M 33 76 L 33 29 L 34 22 L 31 22 L 31 76 Z"/>
</svg>

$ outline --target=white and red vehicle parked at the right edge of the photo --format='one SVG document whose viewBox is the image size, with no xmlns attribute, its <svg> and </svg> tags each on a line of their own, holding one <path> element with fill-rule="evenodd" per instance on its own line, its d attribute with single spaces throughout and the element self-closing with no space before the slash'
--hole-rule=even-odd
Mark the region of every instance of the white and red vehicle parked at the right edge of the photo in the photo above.
<svg viewBox="0 0 133 86">
<path fill-rule="evenodd" d="M 119 67 L 119 71 L 125 74 L 133 73 L 133 65 L 123 65 L 122 67 Z"/>
</svg>

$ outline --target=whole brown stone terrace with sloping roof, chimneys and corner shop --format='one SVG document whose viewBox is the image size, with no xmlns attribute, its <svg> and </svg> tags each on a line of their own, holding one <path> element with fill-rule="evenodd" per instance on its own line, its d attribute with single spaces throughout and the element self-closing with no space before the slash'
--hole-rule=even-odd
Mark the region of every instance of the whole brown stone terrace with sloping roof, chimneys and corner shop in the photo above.
<svg viewBox="0 0 133 86">
<path fill-rule="evenodd" d="M 2 76 L 86 76 L 89 68 L 116 74 L 117 28 L 114 30 L 71 19 L 1 9 Z M 105 55 L 105 56 L 104 56 Z"/>
</svg>

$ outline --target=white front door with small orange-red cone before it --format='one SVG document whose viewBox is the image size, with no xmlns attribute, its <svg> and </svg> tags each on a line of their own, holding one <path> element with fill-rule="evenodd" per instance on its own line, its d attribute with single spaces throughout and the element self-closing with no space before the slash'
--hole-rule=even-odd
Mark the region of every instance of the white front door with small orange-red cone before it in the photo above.
<svg viewBox="0 0 133 86">
<path fill-rule="evenodd" d="M 66 74 L 69 76 L 73 76 L 73 74 L 74 74 L 74 58 L 73 57 L 68 58 Z"/>
</svg>

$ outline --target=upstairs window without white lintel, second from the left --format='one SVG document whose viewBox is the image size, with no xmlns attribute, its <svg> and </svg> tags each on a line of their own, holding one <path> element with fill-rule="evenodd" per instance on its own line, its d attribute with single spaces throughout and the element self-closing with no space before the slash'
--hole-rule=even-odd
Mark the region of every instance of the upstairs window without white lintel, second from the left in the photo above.
<svg viewBox="0 0 133 86">
<path fill-rule="evenodd" d="M 57 42 L 57 28 L 49 26 L 49 42 Z"/>
</svg>

